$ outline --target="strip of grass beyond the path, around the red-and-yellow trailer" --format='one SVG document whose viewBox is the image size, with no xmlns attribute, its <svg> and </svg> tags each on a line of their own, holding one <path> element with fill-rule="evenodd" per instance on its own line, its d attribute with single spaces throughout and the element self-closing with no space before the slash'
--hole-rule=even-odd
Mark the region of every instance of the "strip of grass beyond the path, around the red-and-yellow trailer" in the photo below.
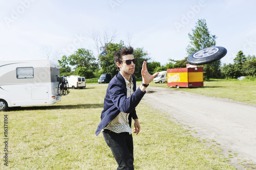
<svg viewBox="0 0 256 170">
<path fill-rule="evenodd" d="M 150 86 L 167 87 L 167 83 L 151 83 Z M 187 91 L 192 93 L 213 96 L 217 98 L 227 98 L 238 102 L 256 105 L 256 80 L 224 80 L 211 79 L 204 82 L 203 87 L 195 88 L 172 88 L 175 90 Z"/>
</svg>

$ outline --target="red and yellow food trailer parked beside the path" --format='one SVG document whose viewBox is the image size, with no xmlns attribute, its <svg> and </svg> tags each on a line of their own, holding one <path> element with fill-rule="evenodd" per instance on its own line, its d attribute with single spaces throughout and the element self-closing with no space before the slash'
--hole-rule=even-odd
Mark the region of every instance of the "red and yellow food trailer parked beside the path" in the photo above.
<svg viewBox="0 0 256 170">
<path fill-rule="evenodd" d="M 202 87 L 203 67 L 167 69 L 168 87 Z"/>
</svg>

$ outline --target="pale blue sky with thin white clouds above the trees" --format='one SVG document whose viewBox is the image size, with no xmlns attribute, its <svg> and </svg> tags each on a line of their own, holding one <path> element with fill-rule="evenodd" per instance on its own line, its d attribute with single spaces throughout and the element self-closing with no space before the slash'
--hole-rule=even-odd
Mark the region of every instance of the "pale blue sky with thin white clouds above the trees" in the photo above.
<svg viewBox="0 0 256 170">
<path fill-rule="evenodd" d="M 46 48 L 58 59 L 78 48 L 96 57 L 91 35 L 108 30 L 116 32 L 114 43 L 143 47 L 164 65 L 187 57 L 188 33 L 205 19 L 216 46 L 227 49 L 221 62 L 233 63 L 240 50 L 256 55 L 255 8 L 255 0 L 2 0 L 0 60 L 46 58 Z"/>
</svg>

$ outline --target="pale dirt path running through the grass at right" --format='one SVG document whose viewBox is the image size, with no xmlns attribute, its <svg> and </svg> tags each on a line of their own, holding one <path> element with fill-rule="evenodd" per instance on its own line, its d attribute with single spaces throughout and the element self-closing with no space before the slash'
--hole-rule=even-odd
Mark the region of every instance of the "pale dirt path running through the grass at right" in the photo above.
<svg viewBox="0 0 256 170">
<path fill-rule="evenodd" d="M 144 102 L 168 113 L 172 121 L 191 130 L 191 135 L 200 137 L 208 147 L 222 149 L 231 165 L 256 167 L 251 165 L 256 163 L 255 106 L 176 89 L 149 86 L 147 91 Z"/>
</svg>

